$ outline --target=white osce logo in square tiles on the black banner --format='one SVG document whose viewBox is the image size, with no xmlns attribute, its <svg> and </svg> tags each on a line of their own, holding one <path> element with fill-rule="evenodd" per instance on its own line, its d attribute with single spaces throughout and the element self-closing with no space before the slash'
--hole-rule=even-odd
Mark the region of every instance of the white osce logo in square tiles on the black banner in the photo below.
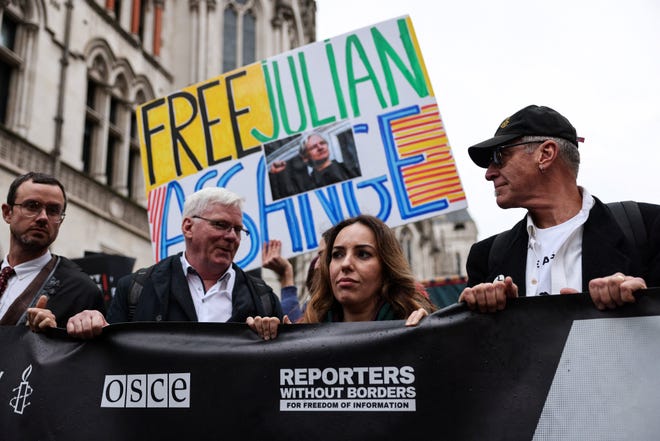
<svg viewBox="0 0 660 441">
<path fill-rule="evenodd" d="M 190 373 L 106 375 L 101 407 L 190 407 Z"/>
</svg>

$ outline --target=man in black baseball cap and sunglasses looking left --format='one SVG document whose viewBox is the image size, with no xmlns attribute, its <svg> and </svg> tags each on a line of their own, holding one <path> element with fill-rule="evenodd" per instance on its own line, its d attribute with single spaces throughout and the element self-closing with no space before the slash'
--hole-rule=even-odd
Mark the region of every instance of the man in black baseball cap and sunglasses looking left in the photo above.
<svg viewBox="0 0 660 441">
<path fill-rule="evenodd" d="M 628 230 L 648 237 L 632 240 L 613 211 L 577 185 L 579 141 L 558 112 L 528 106 L 468 149 L 486 169 L 497 205 L 527 215 L 472 246 L 459 301 L 494 312 L 508 297 L 589 292 L 602 310 L 634 302 L 633 292 L 647 284 L 658 286 L 660 206 L 631 204 Z"/>
</svg>

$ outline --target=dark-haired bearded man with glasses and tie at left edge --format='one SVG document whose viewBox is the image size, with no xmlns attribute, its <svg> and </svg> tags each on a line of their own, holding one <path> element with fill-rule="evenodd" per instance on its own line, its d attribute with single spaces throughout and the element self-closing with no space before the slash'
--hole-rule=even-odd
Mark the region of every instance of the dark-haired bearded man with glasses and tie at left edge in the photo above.
<svg viewBox="0 0 660 441">
<path fill-rule="evenodd" d="M 9 186 L 2 204 L 10 236 L 0 271 L 0 325 L 23 324 L 28 311 L 39 314 L 43 326 L 64 326 L 87 309 L 104 311 L 101 291 L 90 277 L 49 250 L 64 221 L 66 203 L 64 186 L 50 175 L 26 173 Z M 42 309 L 46 306 L 48 310 Z"/>
</svg>

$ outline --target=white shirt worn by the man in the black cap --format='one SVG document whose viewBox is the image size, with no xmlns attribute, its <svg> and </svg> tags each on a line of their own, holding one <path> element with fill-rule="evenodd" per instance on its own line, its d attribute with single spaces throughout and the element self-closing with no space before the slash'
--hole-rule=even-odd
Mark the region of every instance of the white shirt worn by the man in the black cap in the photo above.
<svg viewBox="0 0 660 441">
<path fill-rule="evenodd" d="M 594 198 L 580 187 L 582 208 L 566 222 L 540 229 L 527 215 L 528 296 L 559 294 L 562 288 L 582 292 L 582 232 Z"/>
</svg>

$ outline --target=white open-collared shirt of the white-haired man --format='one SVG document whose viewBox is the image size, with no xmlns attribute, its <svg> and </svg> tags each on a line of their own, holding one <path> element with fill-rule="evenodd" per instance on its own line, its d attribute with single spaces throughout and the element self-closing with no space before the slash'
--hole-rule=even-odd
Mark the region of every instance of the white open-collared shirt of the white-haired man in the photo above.
<svg viewBox="0 0 660 441">
<path fill-rule="evenodd" d="M 192 296 L 197 320 L 199 322 L 226 322 L 232 313 L 232 292 L 236 282 L 236 271 L 229 269 L 218 279 L 218 281 L 204 290 L 204 282 L 197 271 L 186 260 L 186 254 L 181 254 L 181 266 L 188 281 L 188 289 Z"/>
</svg>

